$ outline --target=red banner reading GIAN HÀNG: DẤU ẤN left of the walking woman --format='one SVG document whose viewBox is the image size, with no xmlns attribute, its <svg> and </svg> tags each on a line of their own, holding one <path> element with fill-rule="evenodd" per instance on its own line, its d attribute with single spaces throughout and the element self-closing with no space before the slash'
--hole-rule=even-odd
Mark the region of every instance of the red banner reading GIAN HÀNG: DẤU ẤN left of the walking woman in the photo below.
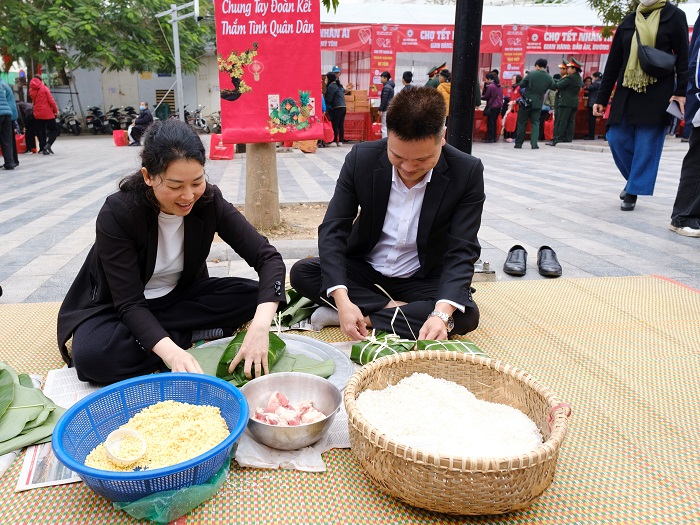
<svg viewBox="0 0 700 525">
<path fill-rule="evenodd" d="M 530 26 L 527 32 L 528 53 L 593 54 L 610 52 L 612 37 L 600 34 L 602 27 Z"/>
</svg>

